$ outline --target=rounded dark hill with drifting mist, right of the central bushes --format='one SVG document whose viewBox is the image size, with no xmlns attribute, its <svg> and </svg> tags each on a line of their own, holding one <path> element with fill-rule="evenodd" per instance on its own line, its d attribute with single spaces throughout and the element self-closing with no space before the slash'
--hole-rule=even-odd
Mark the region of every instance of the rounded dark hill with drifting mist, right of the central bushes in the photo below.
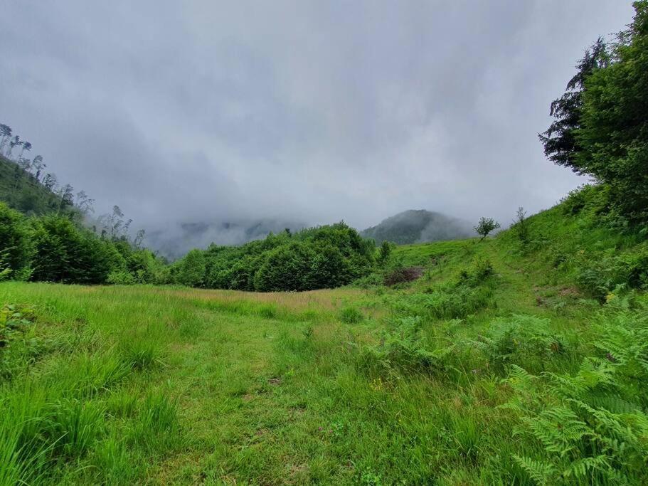
<svg viewBox="0 0 648 486">
<path fill-rule="evenodd" d="M 467 221 L 425 209 L 410 209 L 366 228 L 360 234 L 364 238 L 373 238 L 376 244 L 393 241 L 406 245 L 468 238 L 474 236 L 474 231 Z"/>
</svg>

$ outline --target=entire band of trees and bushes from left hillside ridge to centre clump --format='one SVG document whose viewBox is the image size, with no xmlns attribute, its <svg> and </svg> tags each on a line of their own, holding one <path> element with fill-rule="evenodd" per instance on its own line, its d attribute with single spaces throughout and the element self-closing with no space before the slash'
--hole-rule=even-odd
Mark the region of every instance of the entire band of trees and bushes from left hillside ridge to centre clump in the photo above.
<svg viewBox="0 0 648 486">
<path fill-rule="evenodd" d="M 131 236 L 132 220 L 119 206 L 93 217 L 85 191 L 43 174 L 43 157 L 26 159 L 32 144 L 9 125 L 0 125 L 0 134 L 0 154 L 14 174 L 4 194 L 0 178 L 0 198 L 9 202 L 0 203 L 1 279 L 280 291 L 346 285 L 374 269 L 375 244 L 345 223 L 270 233 L 241 246 L 211 245 L 169 264 L 142 248 L 144 231 Z M 46 202 L 36 204 L 38 198 Z"/>
</svg>

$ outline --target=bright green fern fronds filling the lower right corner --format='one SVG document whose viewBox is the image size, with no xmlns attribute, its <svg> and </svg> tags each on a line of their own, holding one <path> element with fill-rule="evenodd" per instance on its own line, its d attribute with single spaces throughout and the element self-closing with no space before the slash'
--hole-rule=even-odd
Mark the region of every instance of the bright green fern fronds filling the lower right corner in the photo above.
<svg viewBox="0 0 648 486">
<path fill-rule="evenodd" d="M 578 371 L 529 373 L 509 365 L 502 407 L 525 442 L 516 464 L 536 484 L 648 482 L 648 335 L 645 315 L 607 313 Z"/>
</svg>

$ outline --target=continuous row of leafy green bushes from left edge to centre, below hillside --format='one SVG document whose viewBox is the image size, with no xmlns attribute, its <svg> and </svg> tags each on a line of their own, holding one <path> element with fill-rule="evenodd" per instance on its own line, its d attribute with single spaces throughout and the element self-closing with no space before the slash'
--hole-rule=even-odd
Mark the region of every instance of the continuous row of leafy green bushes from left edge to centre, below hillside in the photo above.
<svg viewBox="0 0 648 486">
<path fill-rule="evenodd" d="M 114 218 L 115 227 L 123 228 L 119 214 Z M 211 245 L 169 264 L 124 233 L 97 234 L 67 216 L 26 216 L 0 203 L 0 280 L 314 290 L 368 275 L 375 269 L 375 253 L 372 240 L 336 223 L 270 233 L 241 246 Z"/>
</svg>

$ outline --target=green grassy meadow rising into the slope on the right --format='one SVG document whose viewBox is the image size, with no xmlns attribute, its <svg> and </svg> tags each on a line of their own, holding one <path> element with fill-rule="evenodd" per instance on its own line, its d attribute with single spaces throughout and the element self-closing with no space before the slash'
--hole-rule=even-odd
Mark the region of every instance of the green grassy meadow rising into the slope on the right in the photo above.
<svg viewBox="0 0 648 486">
<path fill-rule="evenodd" d="M 645 483 L 644 297 L 574 277 L 638 243 L 552 211 L 393 288 L 1 283 L 0 484 Z"/>
</svg>

